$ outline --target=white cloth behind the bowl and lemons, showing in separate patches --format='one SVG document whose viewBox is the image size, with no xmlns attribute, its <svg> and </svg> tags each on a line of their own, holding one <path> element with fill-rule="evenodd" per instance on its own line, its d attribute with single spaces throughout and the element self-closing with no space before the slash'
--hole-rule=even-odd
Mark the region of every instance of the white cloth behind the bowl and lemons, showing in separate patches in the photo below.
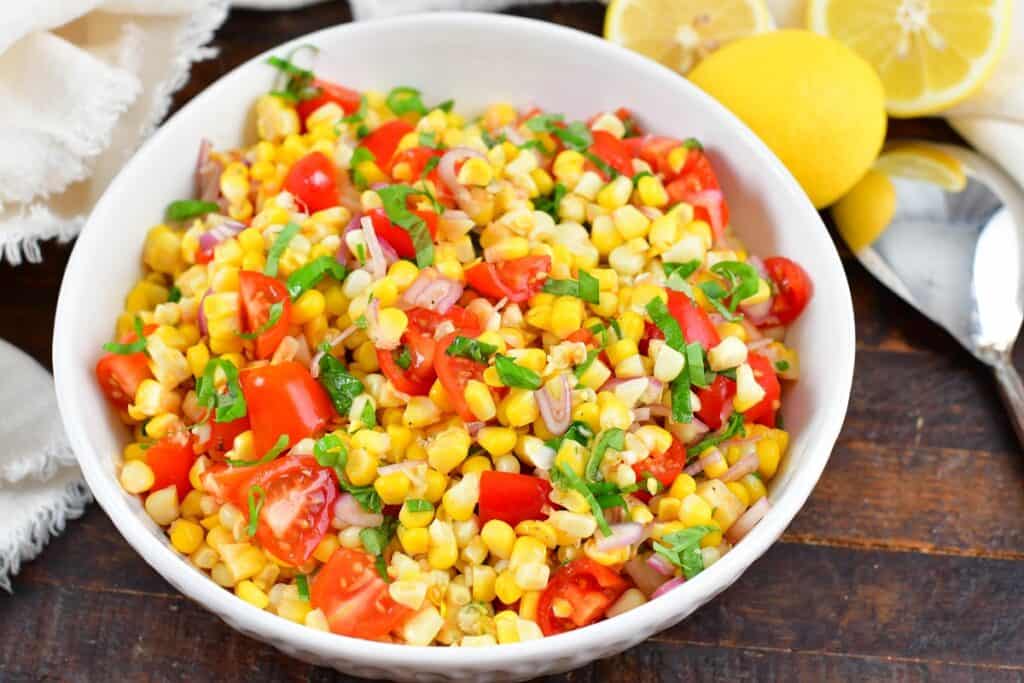
<svg viewBox="0 0 1024 683">
<path fill-rule="evenodd" d="M 408 12 L 497 11 L 552 0 L 349 0 L 356 19 Z M 606 0 L 604 0 L 606 2 Z M 806 0 L 767 0 L 775 25 L 803 28 Z M 1024 186 L 1024 11 L 1014 13 L 1009 49 L 981 91 L 946 113 L 949 123 L 983 155 Z"/>
</svg>

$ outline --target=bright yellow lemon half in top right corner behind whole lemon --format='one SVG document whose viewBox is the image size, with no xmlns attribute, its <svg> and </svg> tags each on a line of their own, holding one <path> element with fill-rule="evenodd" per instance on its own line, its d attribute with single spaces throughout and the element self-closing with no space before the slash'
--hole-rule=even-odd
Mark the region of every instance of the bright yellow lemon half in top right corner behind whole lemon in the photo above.
<svg viewBox="0 0 1024 683">
<path fill-rule="evenodd" d="M 810 0 L 807 25 L 878 70 L 890 116 L 948 109 L 991 75 L 1011 31 L 1013 0 Z"/>
</svg>

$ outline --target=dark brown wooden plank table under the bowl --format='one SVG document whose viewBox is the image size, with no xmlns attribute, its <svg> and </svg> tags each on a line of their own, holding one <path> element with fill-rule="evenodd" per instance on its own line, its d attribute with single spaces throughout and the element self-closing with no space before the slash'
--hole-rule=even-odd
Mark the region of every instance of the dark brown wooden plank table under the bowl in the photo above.
<svg viewBox="0 0 1024 683">
<path fill-rule="evenodd" d="M 597 33 L 602 11 L 516 13 Z M 220 56 L 194 70 L 177 104 L 267 47 L 349 18 L 341 2 L 233 11 L 217 34 Z M 937 121 L 894 128 L 955 139 Z M 50 244 L 40 264 L 0 265 L 0 337 L 46 366 L 70 250 Z M 1024 461 L 994 384 L 848 252 L 843 260 L 857 372 L 846 426 L 804 510 L 692 617 L 552 680 L 1024 679 Z M 239 635 L 179 595 L 97 506 L 25 566 L 13 597 L 0 597 L 3 681 L 338 678 Z"/>
</svg>

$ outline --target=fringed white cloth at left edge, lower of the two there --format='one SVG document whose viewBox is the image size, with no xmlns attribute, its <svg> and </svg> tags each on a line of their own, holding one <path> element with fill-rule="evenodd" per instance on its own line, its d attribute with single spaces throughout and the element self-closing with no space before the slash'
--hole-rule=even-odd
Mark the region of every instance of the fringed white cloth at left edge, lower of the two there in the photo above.
<svg viewBox="0 0 1024 683">
<path fill-rule="evenodd" d="M 0 589 L 91 500 L 57 413 L 53 380 L 0 340 Z"/>
</svg>

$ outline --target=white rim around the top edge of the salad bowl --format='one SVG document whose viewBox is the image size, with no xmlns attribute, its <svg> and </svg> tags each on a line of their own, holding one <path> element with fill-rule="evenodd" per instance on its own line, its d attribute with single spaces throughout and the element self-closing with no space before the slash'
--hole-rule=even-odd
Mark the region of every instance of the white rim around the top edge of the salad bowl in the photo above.
<svg viewBox="0 0 1024 683">
<path fill-rule="evenodd" d="M 809 458 L 809 462 L 794 474 L 785 493 L 773 500 L 771 511 L 748 535 L 743 543 L 726 553 L 716 563 L 714 570 L 701 572 L 657 600 L 652 600 L 624 614 L 584 629 L 500 647 L 460 648 L 392 644 L 321 632 L 258 609 L 208 578 L 200 578 L 196 570 L 184 561 L 184 558 L 165 542 L 157 539 L 136 518 L 134 511 L 129 509 L 128 501 L 118 487 L 116 479 L 108 476 L 99 464 L 97 450 L 92 446 L 85 424 L 76 408 L 73 388 L 70 383 L 61 381 L 62 378 L 72 376 L 72 368 L 76 362 L 80 362 L 75 353 L 74 331 L 65 324 L 68 318 L 66 309 L 71 305 L 69 301 L 72 298 L 69 291 L 74 287 L 73 283 L 79 279 L 78 273 L 84 267 L 87 258 L 84 250 L 78 249 L 78 246 L 82 242 L 82 237 L 90 234 L 93 229 L 93 216 L 102 214 L 106 205 L 113 203 L 115 198 L 124 191 L 121 183 L 127 169 L 137 163 L 138 158 L 151 147 L 161 145 L 168 128 L 173 127 L 175 120 L 193 109 L 209 109 L 210 103 L 217 99 L 220 90 L 227 87 L 226 81 L 238 77 L 239 72 L 251 71 L 254 65 L 265 60 L 271 54 L 308 42 L 311 39 L 318 40 L 327 34 L 374 32 L 381 29 L 408 28 L 413 25 L 417 28 L 457 25 L 460 30 L 478 31 L 511 28 L 538 35 L 549 34 L 563 41 L 566 49 L 580 45 L 587 50 L 598 49 L 613 52 L 616 59 L 644 72 L 646 77 L 651 80 L 652 87 L 655 82 L 660 82 L 658 84 L 664 84 L 664 87 L 688 90 L 688 96 L 702 99 L 705 104 L 709 105 L 715 113 L 714 116 L 721 119 L 724 125 L 732 129 L 733 134 L 742 138 L 745 144 L 754 150 L 757 161 L 752 163 L 761 164 L 775 176 L 775 181 L 779 183 L 779 191 L 788 195 L 793 201 L 794 210 L 801 214 L 801 222 L 816 224 L 821 228 L 819 233 L 809 234 L 808 239 L 817 240 L 820 243 L 818 251 L 821 258 L 826 261 L 824 264 L 826 269 L 837 273 L 837 278 L 842 284 L 837 296 L 843 299 L 844 305 L 842 310 L 838 311 L 839 319 L 836 321 L 836 326 L 829 330 L 829 341 L 834 345 L 833 375 L 829 382 L 830 396 L 827 400 L 821 401 L 819 407 L 815 409 L 821 413 L 822 426 L 808 437 L 804 446 L 812 456 Z M 76 457 L 80 453 L 87 454 L 85 457 L 78 457 L 86 481 L 96 501 L 124 539 L 161 577 L 178 587 L 185 597 L 200 603 L 227 622 L 232 628 L 238 629 L 239 625 L 242 624 L 246 630 L 255 631 L 263 638 L 273 639 L 276 645 L 285 645 L 286 649 L 291 651 L 312 648 L 319 654 L 337 655 L 370 666 L 386 665 L 398 657 L 403 669 L 418 668 L 423 671 L 437 672 L 458 666 L 465 671 L 480 673 L 540 657 L 558 659 L 564 657 L 569 648 L 580 651 L 591 650 L 595 652 L 595 655 L 600 655 L 607 648 L 614 647 L 615 643 L 633 644 L 634 640 L 638 640 L 633 636 L 644 632 L 644 629 L 649 628 L 650 625 L 672 622 L 680 613 L 688 614 L 689 611 L 699 608 L 703 601 L 710 600 L 728 588 L 779 538 L 785 526 L 803 507 L 828 461 L 843 425 L 852 388 L 855 330 L 849 284 L 843 275 L 839 253 L 828 238 L 820 216 L 778 158 L 732 113 L 688 80 L 681 78 L 679 74 L 599 37 L 538 19 L 480 12 L 412 14 L 326 27 L 261 52 L 218 78 L 161 125 L 124 165 L 104 190 L 83 227 L 82 237 L 79 238 L 79 243 L 73 250 L 60 287 L 53 336 L 53 369 L 57 401 L 69 440 Z M 690 609 L 687 603 L 692 603 L 694 600 L 697 601 L 697 606 Z M 620 647 L 616 651 L 625 648 Z"/>
</svg>

